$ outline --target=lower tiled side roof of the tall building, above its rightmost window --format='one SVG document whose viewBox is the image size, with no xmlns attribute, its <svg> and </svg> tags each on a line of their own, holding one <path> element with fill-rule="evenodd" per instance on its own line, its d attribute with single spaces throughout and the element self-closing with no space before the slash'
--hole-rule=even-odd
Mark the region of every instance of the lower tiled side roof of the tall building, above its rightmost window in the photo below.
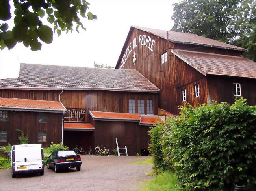
<svg viewBox="0 0 256 191">
<path fill-rule="evenodd" d="M 256 62 L 248 58 L 173 49 L 172 53 L 203 75 L 256 78 Z"/>
</svg>

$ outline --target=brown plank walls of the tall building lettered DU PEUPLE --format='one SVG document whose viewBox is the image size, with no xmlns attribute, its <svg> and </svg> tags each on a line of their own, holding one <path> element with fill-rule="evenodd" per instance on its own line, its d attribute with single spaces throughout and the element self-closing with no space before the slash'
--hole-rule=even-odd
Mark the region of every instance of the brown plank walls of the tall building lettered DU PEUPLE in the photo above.
<svg viewBox="0 0 256 191">
<path fill-rule="evenodd" d="M 128 55 L 127 60 L 123 67 L 122 57 L 125 54 L 125 49 L 122 50 L 121 56 L 117 62 L 116 68 L 120 69 L 136 69 L 143 76 L 145 76 L 150 82 L 156 85 L 160 89 L 158 96 L 158 107 L 165 109 L 173 114 L 178 114 L 180 105 L 185 105 L 182 101 L 182 89 L 186 88 L 187 101 L 192 106 L 197 107 L 198 104 L 208 103 L 208 100 L 230 101 L 234 98 L 225 98 L 224 91 L 218 95 L 217 87 L 224 87 L 226 80 L 223 80 L 220 76 L 213 77 L 217 81 L 214 82 L 213 78 L 208 78 L 195 68 L 191 67 L 177 56 L 171 53 L 171 49 L 186 49 L 191 51 L 215 53 L 222 55 L 241 56 L 242 51 L 231 50 L 231 49 L 220 49 L 214 47 L 204 47 L 193 44 L 178 44 L 170 42 L 160 36 L 147 33 L 145 31 L 132 28 L 127 39 L 124 48 L 128 47 L 130 42 L 133 42 L 134 38 L 140 35 L 150 36 L 154 39 L 154 45 L 152 51 L 144 45 L 137 45 L 132 48 L 131 53 Z M 133 44 L 133 43 L 132 43 Z M 167 62 L 161 64 L 161 55 L 167 51 L 168 58 Z M 136 54 L 135 64 L 133 63 L 133 55 Z M 233 78 L 233 77 L 231 77 Z M 236 78 L 234 78 L 236 79 Z M 231 80 L 232 81 L 232 80 Z M 234 81 L 234 80 L 233 80 Z M 256 104 L 255 93 L 250 95 L 255 86 L 255 80 L 243 79 L 243 83 L 249 83 L 251 85 L 244 86 L 244 95 L 250 99 L 251 104 Z M 216 85 L 218 83 L 218 85 Z M 223 84 L 222 84 L 223 83 Z M 252 85 L 254 83 L 254 85 Z M 195 97 L 195 85 L 199 84 L 200 96 Z M 231 85 L 232 86 L 232 85 Z M 245 88 L 246 87 L 246 88 Z M 231 87 L 232 88 L 232 87 Z M 230 91 L 232 96 L 232 90 Z M 223 94 L 223 95 L 222 95 Z M 208 97 L 210 96 L 210 97 Z M 254 101 L 253 101 L 254 100 Z"/>
</svg>

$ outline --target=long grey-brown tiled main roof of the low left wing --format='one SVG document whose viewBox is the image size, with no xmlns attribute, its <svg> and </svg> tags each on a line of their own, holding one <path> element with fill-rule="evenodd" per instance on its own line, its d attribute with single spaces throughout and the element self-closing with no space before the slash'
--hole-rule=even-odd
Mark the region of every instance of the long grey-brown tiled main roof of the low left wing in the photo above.
<svg viewBox="0 0 256 191">
<path fill-rule="evenodd" d="M 20 64 L 18 78 L 0 80 L 0 88 L 34 88 L 158 92 L 159 89 L 135 69 L 104 69 L 57 65 Z"/>
</svg>

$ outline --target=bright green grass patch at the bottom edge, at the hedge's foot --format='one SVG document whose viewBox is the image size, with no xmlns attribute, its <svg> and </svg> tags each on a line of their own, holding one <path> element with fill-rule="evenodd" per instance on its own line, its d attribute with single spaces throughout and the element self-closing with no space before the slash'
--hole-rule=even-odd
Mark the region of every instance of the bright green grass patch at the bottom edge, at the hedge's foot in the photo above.
<svg viewBox="0 0 256 191">
<path fill-rule="evenodd" d="M 152 180 L 143 182 L 143 185 L 139 191 L 179 191 L 177 179 L 172 171 L 164 171 L 158 174 Z"/>
</svg>

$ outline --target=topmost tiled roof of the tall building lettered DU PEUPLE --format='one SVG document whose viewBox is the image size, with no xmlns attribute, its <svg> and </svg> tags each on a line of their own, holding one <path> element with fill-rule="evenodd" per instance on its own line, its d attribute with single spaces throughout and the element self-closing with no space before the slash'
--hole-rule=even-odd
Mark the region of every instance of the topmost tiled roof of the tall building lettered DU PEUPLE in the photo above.
<svg viewBox="0 0 256 191">
<path fill-rule="evenodd" d="M 138 26 L 132 26 L 136 29 L 151 33 L 156 36 L 160 36 L 161 38 L 167 39 L 167 32 L 168 32 L 168 39 L 171 42 L 174 43 L 182 43 L 182 44 L 195 44 L 195 45 L 204 45 L 204 46 L 210 46 L 210 47 L 217 47 L 217 48 L 223 48 L 223 49 L 234 49 L 239 51 L 247 51 L 247 49 L 234 46 L 231 44 L 226 44 L 224 42 L 220 42 L 217 40 L 213 40 L 210 38 L 205 38 L 198 35 L 193 35 L 190 33 L 181 33 L 181 32 L 175 32 L 175 31 L 164 31 L 164 30 L 158 30 L 158 29 L 149 29 L 145 27 L 138 27 Z"/>
</svg>

